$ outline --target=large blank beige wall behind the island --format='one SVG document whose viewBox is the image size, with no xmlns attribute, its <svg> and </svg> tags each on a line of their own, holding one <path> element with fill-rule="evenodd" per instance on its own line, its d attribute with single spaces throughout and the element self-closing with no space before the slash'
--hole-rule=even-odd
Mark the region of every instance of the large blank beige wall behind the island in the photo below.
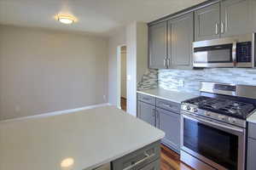
<svg viewBox="0 0 256 170">
<path fill-rule="evenodd" d="M 0 119 L 106 102 L 106 39 L 14 26 L 0 37 Z"/>
</svg>

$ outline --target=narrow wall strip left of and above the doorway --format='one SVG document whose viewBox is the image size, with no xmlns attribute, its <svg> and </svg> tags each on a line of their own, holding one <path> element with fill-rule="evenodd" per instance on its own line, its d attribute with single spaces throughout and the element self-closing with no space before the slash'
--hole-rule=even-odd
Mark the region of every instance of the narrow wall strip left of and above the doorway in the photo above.
<svg viewBox="0 0 256 170">
<path fill-rule="evenodd" d="M 125 45 L 125 29 L 120 29 L 108 40 L 108 102 L 120 107 L 120 73 L 118 72 L 118 47 Z"/>
</svg>

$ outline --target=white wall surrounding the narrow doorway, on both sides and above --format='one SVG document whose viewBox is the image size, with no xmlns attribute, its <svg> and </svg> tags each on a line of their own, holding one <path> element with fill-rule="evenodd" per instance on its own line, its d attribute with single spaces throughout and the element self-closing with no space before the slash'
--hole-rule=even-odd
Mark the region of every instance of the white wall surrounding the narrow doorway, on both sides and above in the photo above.
<svg viewBox="0 0 256 170">
<path fill-rule="evenodd" d="M 148 71 L 148 26 L 146 23 L 133 22 L 119 30 L 109 39 L 108 59 L 108 99 L 119 107 L 119 58 L 117 48 L 126 44 L 127 62 L 127 112 L 137 115 L 137 82 Z"/>
</svg>

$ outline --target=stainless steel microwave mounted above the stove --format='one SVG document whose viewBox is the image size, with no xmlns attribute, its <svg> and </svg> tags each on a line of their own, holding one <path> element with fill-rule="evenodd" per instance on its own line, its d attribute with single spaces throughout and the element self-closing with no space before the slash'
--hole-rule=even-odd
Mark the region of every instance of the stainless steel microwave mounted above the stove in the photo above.
<svg viewBox="0 0 256 170">
<path fill-rule="evenodd" d="M 194 67 L 254 67 L 255 34 L 193 42 Z"/>
</svg>

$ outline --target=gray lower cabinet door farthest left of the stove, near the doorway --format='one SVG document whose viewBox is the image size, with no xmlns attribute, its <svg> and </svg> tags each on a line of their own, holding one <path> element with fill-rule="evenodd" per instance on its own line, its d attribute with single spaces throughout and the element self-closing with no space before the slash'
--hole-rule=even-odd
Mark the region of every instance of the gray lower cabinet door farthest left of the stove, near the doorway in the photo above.
<svg viewBox="0 0 256 170">
<path fill-rule="evenodd" d="M 148 122 L 155 127 L 154 105 L 149 105 L 141 101 L 138 102 L 138 117 L 144 122 Z"/>
</svg>

